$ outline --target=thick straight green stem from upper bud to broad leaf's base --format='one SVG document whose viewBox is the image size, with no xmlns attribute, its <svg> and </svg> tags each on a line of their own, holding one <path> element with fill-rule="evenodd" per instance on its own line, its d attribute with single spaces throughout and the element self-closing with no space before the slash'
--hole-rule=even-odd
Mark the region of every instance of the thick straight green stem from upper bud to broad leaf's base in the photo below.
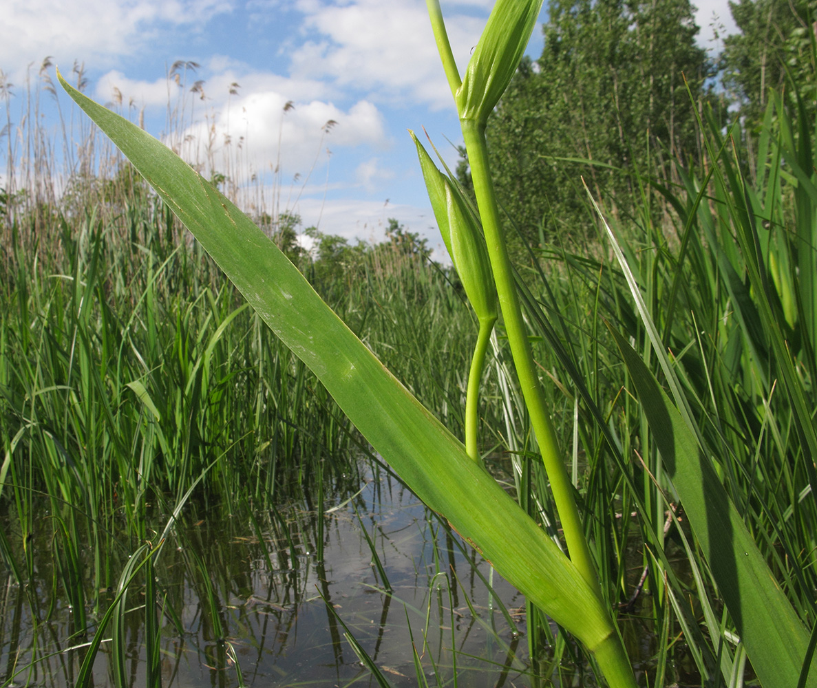
<svg viewBox="0 0 817 688">
<path fill-rule="evenodd" d="M 431 2 L 431 0 L 430 0 Z M 534 355 L 530 348 L 525 322 L 522 319 L 519 295 L 516 292 L 507 244 L 499 222 L 499 209 L 493 191 L 488 163 L 488 146 L 485 142 L 485 126 L 470 119 L 461 119 L 462 136 L 471 166 L 476 203 L 480 209 L 482 228 L 497 285 L 499 306 L 505 322 L 508 342 L 511 345 L 516 374 L 519 377 L 522 395 L 528 408 L 530 422 L 534 427 L 539 451 L 542 454 L 547 477 L 551 482 L 553 499 L 559 512 L 562 529 L 565 531 L 570 559 L 581 572 L 583 578 L 601 598 L 601 590 L 596 577 L 596 568 L 590 556 L 590 547 L 584 537 L 582 521 L 573 496 L 567 468 L 561 460 L 561 452 L 547 413 L 545 395 L 534 365 Z"/>
</svg>

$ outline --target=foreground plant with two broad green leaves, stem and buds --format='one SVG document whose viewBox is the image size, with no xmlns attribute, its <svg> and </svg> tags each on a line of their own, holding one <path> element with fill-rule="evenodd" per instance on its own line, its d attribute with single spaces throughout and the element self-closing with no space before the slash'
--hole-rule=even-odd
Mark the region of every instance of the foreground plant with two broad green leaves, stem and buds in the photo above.
<svg viewBox="0 0 817 688">
<path fill-rule="evenodd" d="M 462 78 L 453 61 L 439 2 L 427 3 L 462 123 L 477 201 L 474 212 L 458 185 L 435 168 L 417 143 L 435 215 L 480 321 L 467 393 L 465 445 L 383 367 L 239 208 L 160 142 L 90 101 L 61 77 L 60 83 L 145 176 L 261 319 L 312 369 L 406 484 L 529 601 L 582 641 L 610 686 L 632 688 L 636 678 L 599 583 L 597 562 L 587 543 L 534 364 L 485 144 L 489 115 L 516 70 L 542 0 L 498 0 Z M 623 255 L 620 260 L 627 272 Z M 638 285 L 633 282 L 631 286 L 637 301 Z M 498 310 L 568 555 L 475 460 L 479 458 L 477 390 Z M 640 314 L 650 330 L 649 313 L 640 309 Z M 739 632 L 745 633 L 742 641 L 758 676 L 765 686 L 788 688 L 797 681 L 800 686 L 817 685 L 817 677 L 808 673 L 806 628 L 780 592 L 748 531 L 740 529 L 734 504 L 725 491 L 719 491 L 720 485 L 710 489 L 715 471 L 700 450 L 699 438 L 690 431 L 685 409 L 678 411 L 659 391 L 652 373 L 633 355 L 627 340 L 615 333 L 614 337 L 636 391 L 649 404 L 646 421 L 660 437 L 668 475 L 676 480 L 694 532 L 710 557 L 712 574 L 721 587 L 730 581 L 736 585 L 737 594 L 727 595 L 726 601 Z M 666 358 L 659 340 L 653 346 L 659 357 Z M 672 386 L 671 371 L 667 376 Z M 725 528 L 725 535 L 707 537 Z"/>
</svg>

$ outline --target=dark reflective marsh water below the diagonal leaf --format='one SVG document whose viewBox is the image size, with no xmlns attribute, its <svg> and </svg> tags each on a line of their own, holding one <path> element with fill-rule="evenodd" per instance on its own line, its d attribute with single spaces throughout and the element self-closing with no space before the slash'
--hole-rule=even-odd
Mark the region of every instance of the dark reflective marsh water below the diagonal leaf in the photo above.
<svg viewBox="0 0 817 688">
<path fill-rule="evenodd" d="M 455 675 L 459 686 L 530 685 L 523 596 L 387 471 L 368 464 L 360 477 L 358 491 L 328 494 L 322 509 L 306 498 L 232 515 L 185 507 L 154 569 L 163 686 L 377 685 L 351 641 L 394 686 L 417 686 L 418 671 L 432 686 Z M 76 582 L 78 617 L 49 508 L 28 538 L 33 583 L 10 571 L 0 581 L 0 686 L 74 686 L 114 602 L 114 585 L 87 589 L 95 563 L 79 546 L 88 576 Z M 2 528 L 20 537 L 10 513 Z M 103 565 L 121 570 L 134 545 L 114 544 Z M 93 686 L 147 685 L 146 589 L 138 578 L 130 587 L 118 650 L 106 628 Z"/>
</svg>

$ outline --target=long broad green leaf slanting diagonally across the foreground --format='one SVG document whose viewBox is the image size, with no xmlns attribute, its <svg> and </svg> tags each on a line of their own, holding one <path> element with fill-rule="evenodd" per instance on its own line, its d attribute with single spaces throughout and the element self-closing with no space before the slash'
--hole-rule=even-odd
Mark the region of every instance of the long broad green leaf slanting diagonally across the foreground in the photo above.
<svg viewBox="0 0 817 688">
<path fill-rule="evenodd" d="M 511 584 L 596 652 L 611 686 L 634 686 L 609 611 L 582 574 L 355 337 L 275 244 L 159 141 L 89 100 L 61 76 L 60 83 L 417 496 Z"/>
</svg>

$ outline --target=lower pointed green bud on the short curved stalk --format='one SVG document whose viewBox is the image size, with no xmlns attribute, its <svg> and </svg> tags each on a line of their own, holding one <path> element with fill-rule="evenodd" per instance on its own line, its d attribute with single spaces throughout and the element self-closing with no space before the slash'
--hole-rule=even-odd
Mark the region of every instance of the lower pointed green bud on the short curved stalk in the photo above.
<svg viewBox="0 0 817 688">
<path fill-rule="evenodd" d="M 488 247 L 474 213 L 462 191 L 449 176 L 437 169 L 414 132 L 408 132 L 417 146 L 422 176 L 445 248 L 457 270 L 462 288 L 480 322 L 493 323 L 498 315 L 497 288 L 488 257 Z"/>
</svg>

